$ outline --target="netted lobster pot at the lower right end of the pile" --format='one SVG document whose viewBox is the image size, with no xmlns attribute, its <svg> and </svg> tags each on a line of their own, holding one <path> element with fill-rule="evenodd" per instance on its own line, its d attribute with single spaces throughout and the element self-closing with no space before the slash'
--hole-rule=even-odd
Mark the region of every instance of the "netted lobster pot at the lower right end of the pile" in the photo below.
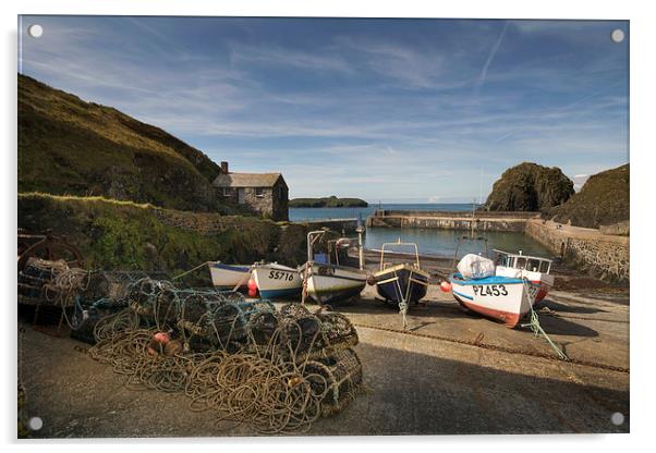
<svg viewBox="0 0 656 453">
<path fill-rule="evenodd" d="M 362 363 L 355 351 L 342 350 L 329 357 L 311 360 L 304 376 L 315 394 L 325 394 L 321 415 L 340 413 L 362 385 Z"/>
</svg>

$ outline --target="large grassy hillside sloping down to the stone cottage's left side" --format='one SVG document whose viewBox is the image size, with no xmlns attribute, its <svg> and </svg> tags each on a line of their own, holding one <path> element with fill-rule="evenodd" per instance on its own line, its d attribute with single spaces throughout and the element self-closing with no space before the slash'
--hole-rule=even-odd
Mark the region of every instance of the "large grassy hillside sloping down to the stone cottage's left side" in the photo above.
<svg viewBox="0 0 656 453">
<path fill-rule="evenodd" d="M 165 131 L 19 75 L 19 192 L 222 210 L 219 167 Z"/>
</svg>

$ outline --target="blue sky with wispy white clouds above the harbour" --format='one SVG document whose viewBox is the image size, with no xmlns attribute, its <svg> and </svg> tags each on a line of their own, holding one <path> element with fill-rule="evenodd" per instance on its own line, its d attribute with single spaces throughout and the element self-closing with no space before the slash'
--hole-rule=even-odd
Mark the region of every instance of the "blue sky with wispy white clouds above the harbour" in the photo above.
<svg viewBox="0 0 656 453">
<path fill-rule="evenodd" d="M 471 203 L 523 161 L 578 187 L 629 161 L 627 21 L 22 16 L 20 30 L 19 72 L 231 171 L 282 172 L 292 198 Z"/>
</svg>

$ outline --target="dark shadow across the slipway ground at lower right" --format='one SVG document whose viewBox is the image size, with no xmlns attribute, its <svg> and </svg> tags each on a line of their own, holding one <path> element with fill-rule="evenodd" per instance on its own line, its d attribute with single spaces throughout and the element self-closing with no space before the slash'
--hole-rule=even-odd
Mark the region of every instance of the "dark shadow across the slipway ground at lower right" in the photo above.
<svg viewBox="0 0 656 453">
<path fill-rule="evenodd" d="M 517 358 L 525 374 L 515 374 L 494 368 L 491 356 L 489 367 L 479 366 L 409 351 L 405 342 L 403 351 L 379 346 L 381 340 L 356 347 L 366 394 L 311 434 L 629 432 L 629 391 L 545 377 L 527 357 Z M 611 423 L 615 412 L 625 416 L 622 426 Z"/>
</svg>

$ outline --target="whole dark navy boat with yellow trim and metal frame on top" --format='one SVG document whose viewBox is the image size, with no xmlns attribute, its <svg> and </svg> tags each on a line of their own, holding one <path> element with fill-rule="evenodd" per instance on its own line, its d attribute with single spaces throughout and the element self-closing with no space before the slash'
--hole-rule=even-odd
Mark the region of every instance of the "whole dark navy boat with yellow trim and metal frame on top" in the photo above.
<svg viewBox="0 0 656 453">
<path fill-rule="evenodd" d="M 385 262 L 386 247 L 390 246 L 412 246 L 414 247 L 415 261 L 411 264 L 391 265 Z M 420 267 L 420 254 L 414 243 L 402 243 L 399 238 L 397 243 L 382 244 L 380 249 L 380 269 L 374 272 L 372 279 L 376 284 L 378 297 L 390 304 L 403 304 L 406 306 L 417 304 L 428 290 L 428 278 L 430 274 Z M 401 307 L 402 308 L 402 307 Z"/>
</svg>

